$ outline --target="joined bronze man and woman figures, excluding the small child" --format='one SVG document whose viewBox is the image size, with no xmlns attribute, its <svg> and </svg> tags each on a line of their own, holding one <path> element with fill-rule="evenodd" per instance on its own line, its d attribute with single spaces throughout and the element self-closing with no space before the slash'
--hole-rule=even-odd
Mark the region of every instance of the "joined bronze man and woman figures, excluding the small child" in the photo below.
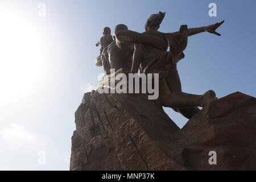
<svg viewBox="0 0 256 182">
<path fill-rule="evenodd" d="M 151 15 L 146 22 L 142 34 L 128 30 L 125 24 L 115 27 L 115 41 L 101 51 L 101 60 L 106 74 L 110 69 L 123 73 L 159 73 L 159 100 L 163 106 L 179 111 L 184 117 L 191 118 L 200 109 L 206 108 L 216 99 L 213 90 L 203 95 L 181 92 L 181 82 L 176 64 L 184 58 L 188 36 L 208 31 L 220 36 L 216 29 L 224 23 L 216 23 L 207 27 L 187 28 L 182 25 L 180 31 L 174 33 L 159 32 L 158 28 L 165 13 Z M 167 48 L 170 47 L 170 51 Z"/>
</svg>

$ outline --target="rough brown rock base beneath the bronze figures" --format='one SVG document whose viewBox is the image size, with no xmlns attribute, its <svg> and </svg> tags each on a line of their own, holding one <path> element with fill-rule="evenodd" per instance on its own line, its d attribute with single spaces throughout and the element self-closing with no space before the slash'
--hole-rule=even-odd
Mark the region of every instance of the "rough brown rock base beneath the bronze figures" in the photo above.
<svg viewBox="0 0 256 182">
<path fill-rule="evenodd" d="M 142 94 L 86 93 L 75 114 L 71 170 L 256 169 L 256 98 L 213 101 L 179 129 Z M 209 151 L 217 152 L 210 165 Z"/>
</svg>

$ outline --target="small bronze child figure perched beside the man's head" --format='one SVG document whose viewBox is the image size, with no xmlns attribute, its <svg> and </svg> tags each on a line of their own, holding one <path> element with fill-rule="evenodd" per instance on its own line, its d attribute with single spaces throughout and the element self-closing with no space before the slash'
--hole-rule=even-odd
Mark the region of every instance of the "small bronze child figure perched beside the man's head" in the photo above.
<svg viewBox="0 0 256 182">
<path fill-rule="evenodd" d="M 111 30 L 109 27 L 105 27 L 103 30 L 103 36 L 101 37 L 100 41 L 96 43 L 96 47 L 101 45 L 100 48 L 100 55 L 96 58 L 96 65 L 98 67 L 102 66 L 102 61 L 101 61 L 101 53 L 103 50 L 109 46 L 110 43 L 113 42 L 113 37 L 111 35 Z"/>
</svg>

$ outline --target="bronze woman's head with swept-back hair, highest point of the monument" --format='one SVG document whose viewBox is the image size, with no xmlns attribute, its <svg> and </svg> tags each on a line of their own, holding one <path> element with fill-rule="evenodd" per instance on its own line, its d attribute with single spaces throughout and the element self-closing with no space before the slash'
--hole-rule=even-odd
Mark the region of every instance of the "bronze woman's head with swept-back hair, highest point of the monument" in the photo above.
<svg viewBox="0 0 256 182">
<path fill-rule="evenodd" d="M 160 24 L 162 23 L 164 16 L 166 13 L 163 13 L 159 11 L 158 14 L 152 14 L 148 17 L 147 22 L 145 24 L 145 30 L 147 31 L 148 29 L 155 29 L 158 30 L 160 27 Z"/>
</svg>

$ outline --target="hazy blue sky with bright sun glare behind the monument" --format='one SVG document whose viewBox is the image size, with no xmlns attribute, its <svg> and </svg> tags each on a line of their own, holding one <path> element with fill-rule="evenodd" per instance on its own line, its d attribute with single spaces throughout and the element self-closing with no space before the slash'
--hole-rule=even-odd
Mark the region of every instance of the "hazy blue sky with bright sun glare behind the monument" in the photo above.
<svg viewBox="0 0 256 182">
<path fill-rule="evenodd" d="M 208 15 L 209 3 L 216 3 L 216 17 Z M 162 32 L 225 20 L 221 36 L 189 37 L 177 65 L 183 92 L 255 97 L 255 7 L 255 0 L 0 0 L 0 170 L 69 169 L 75 111 L 103 72 L 95 44 L 105 26 L 143 32 L 158 11 L 166 12 Z M 164 110 L 179 127 L 188 121 Z"/>
</svg>

